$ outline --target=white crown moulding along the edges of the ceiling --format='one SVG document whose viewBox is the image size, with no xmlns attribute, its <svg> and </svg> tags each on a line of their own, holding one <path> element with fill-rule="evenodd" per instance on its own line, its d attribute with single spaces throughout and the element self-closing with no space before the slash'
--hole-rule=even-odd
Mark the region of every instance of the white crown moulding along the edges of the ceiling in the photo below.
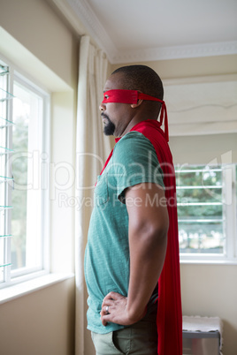
<svg viewBox="0 0 237 355">
<path fill-rule="evenodd" d="M 200 43 L 131 51 L 118 50 L 86 0 L 65 0 L 111 64 L 237 54 L 237 42 Z"/>
</svg>

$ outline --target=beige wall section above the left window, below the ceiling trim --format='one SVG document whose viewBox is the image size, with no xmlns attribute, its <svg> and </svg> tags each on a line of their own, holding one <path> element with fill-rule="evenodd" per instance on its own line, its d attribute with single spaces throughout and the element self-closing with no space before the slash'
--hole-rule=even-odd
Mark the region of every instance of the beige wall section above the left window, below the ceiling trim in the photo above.
<svg viewBox="0 0 237 355">
<path fill-rule="evenodd" d="M 0 26 L 70 87 L 77 82 L 76 39 L 45 0 L 1 0 Z M 16 60 L 19 53 L 15 53 Z"/>
</svg>

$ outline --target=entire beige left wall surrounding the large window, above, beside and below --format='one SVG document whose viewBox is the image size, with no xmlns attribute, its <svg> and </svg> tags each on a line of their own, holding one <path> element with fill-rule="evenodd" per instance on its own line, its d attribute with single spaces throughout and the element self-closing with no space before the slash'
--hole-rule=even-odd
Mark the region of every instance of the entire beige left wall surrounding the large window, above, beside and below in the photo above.
<svg viewBox="0 0 237 355">
<path fill-rule="evenodd" d="M 47 1 L 0 1 L 0 52 L 52 95 L 52 168 L 60 162 L 74 164 L 78 49 L 79 38 Z M 57 187 L 63 183 L 57 171 Z M 50 267 L 72 272 L 74 213 L 60 208 L 60 192 L 57 188 L 51 199 Z M 73 186 L 64 193 L 72 196 Z M 74 293 L 70 278 L 1 304 L 0 353 L 73 355 Z"/>
</svg>

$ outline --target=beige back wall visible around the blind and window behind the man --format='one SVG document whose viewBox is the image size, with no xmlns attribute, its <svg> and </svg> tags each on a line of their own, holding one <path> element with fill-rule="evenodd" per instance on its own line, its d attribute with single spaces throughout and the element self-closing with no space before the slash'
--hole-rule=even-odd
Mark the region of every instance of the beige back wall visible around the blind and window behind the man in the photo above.
<svg viewBox="0 0 237 355">
<path fill-rule="evenodd" d="M 237 72 L 237 56 L 204 57 L 141 63 L 152 67 L 162 79 L 188 78 Z M 126 65 L 126 64 L 122 64 Z M 111 71 L 119 64 L 111 65 Z M 165 90 L 165 87 L 164 87 Z M 169 112 L 169 108 L 167 108 Z M 171 137 L 175 163 L 221 162 L 233 152 L 237 162 L 237 133 Z M 237 266 L 181 264 L 183 314 L 219 316 L 224 322 L 224 355 L 237 351 Z"/>
</svg>

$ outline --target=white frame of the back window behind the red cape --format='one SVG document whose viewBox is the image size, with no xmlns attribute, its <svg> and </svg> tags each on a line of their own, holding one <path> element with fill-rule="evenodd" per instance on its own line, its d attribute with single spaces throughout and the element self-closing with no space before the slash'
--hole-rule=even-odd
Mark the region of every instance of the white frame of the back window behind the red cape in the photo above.
<svg viewBox="0 0 237 355">
<path fill-rule="evenodd" d="M 195 164 L 196 166 L 206 166 L 205 164 Z M 187 166 L 187 164 L 185 164 Z M 188 164 L 193 166 L 193 164 Z M 177 164 L 178 169 L 180 166 Z M 182 165 L 183 167 L 183 165 Z M 225 204 L 226 221 L 224 222 L 226 234 L 226 253 L 212 254 L 212 253 L 180 253 L 180 263 L 182 264 L 237 264 L 237 215 L 236 215 L 236 177 L 237 177 L 237 164 L 221 164 L 223 173 L 223 188 L 224 194 L 227 194 L 227 199 L 231 199 L 231 203 Z M 177 168 L 175 167 L 175 170 Z M 230 174 L 231 172 L 231 174 Z M 179 208 L 179 203 L 178 203 Z M 179 222 L 179 221 L 178 221 Z"/>
</svg>

